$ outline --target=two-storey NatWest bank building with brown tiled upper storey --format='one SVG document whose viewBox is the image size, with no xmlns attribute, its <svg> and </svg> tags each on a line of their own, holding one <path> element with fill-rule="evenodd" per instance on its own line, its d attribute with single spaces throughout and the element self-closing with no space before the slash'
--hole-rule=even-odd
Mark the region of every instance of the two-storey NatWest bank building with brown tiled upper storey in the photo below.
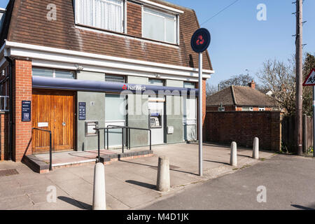
<svg viewBox="0 0 315 224">
<path fill-rule="evenodd" d="M 194 10 L 158 0 L 10 0 L 3 16 L 1 160 L 48 152 L 48 135 L 33 128 L 52 132 L 54 151 L 94 150 L 94 127 L 109 125 L 148 128 L 153 144 L 197 138 Z M 214 71 L 208 52 L 203 59 L 205 105 Z M 109 135 L 118 146 L 122 133 Z M 131 135 L 125 144 L 148 144 L 147 134 Z"/>
</svg>

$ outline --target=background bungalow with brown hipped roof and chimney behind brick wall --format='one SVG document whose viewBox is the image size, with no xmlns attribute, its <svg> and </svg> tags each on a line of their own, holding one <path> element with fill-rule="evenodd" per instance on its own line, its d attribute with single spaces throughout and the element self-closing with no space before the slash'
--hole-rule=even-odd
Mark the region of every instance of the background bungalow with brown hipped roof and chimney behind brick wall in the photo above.
<svg viewBox="0 0 315 224">
<path fill-rule="evenodd" d="M 248 86 L 225 88 L 207 98 L 207 111 L 274 111 L 276 102 L 272 97 L 255 89 L 255 82 Z"/>
</svg>

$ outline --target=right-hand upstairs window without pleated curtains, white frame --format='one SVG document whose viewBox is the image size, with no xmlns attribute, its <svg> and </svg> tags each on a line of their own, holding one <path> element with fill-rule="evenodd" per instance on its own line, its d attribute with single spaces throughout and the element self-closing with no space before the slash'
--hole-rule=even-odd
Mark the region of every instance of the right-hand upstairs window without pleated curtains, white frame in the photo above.
<svg viewBox="0 0 315 224">
<path fill-rule="evenodd" d="M 177 16 L 144 8 L 142 35 L 157 41 L 177 43 Z"/>
</svg>

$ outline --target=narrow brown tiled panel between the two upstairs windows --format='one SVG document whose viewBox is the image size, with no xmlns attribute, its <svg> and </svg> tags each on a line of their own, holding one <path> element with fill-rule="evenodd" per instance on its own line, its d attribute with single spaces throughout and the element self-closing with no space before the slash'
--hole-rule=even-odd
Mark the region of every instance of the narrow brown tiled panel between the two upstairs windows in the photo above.
<svg viewBox="0 0 315 224">
<path fill-rule="evenodd" d="M 127 1 L 127 34 L 142 37 L 142 7 Z"/>
</svg>

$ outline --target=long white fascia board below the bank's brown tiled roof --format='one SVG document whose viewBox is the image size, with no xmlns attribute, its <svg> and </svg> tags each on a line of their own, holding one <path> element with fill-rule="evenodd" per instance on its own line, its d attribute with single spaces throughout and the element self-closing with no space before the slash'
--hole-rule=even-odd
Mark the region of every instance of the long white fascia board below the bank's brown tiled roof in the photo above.
<svg viewBox="0 0 315 224">
<path fill-rule="evenodd" d="M 102 66 L 110 68 L 125 68 L 132 71 L 146 71 L 151 73 L 165 73 L 176 76 L 197 77 L 198 69 L 184 66 L 174 66 L 155 62 L 145 62 L 121 57 L 111 57 L 106 55 L 96 55 L 86 52 L 64 50 L 60 48 L 49 48 L 39 45 L 29 45 L 6 41 L 6 50 L 10 56 L 28 57 L 30 59 L 42 59 L 53 62 L 69 62 L 82 66 Z M 211 70 L 203 70 L 204 78 L 210 78 Z"/>
</svg>

